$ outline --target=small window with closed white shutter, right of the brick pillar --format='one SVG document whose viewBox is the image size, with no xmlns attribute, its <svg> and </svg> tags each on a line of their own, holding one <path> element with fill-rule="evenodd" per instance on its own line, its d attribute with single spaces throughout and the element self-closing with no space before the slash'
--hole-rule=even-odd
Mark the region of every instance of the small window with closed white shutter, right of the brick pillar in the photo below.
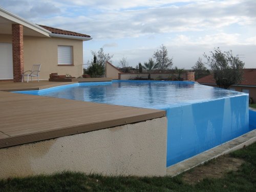
<svg viewBox="0 0 256 192">
<path fill-rule="evenodd" d="M 74 65 L 72 46 L 58 46 L 58 65 Z"/>
</svg>

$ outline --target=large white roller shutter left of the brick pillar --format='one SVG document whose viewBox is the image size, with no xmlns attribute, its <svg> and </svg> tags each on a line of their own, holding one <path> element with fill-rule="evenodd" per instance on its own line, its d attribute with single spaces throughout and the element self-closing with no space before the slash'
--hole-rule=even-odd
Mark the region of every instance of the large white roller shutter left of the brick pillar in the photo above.
<svg viewBox="0 0 256 192">
<path fill-rule="evenodd" d="M 12 44 L 0 43 L 0 80 L 13 79 Z"/>
</svg>

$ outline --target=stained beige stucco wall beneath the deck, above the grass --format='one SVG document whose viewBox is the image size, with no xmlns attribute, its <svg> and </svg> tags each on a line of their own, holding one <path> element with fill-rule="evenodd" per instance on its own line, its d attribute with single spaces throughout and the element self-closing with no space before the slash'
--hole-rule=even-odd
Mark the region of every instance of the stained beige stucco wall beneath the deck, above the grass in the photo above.
<svg viewBox="0 0 256 192">
<path fill-rule="evenodd" d="M 0 178 L 62 170 L 166 175 L 166 117 L 0 149 Z"/>
</svg>

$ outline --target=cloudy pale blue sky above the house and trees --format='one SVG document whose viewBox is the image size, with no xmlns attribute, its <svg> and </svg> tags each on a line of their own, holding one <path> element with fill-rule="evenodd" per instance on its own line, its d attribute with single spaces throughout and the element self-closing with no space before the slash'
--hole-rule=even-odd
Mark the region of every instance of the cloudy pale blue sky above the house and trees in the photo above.
<svg viewBox="0 0 256 192">
<path fill-rule="evenodd" d="M 102 47 L 114 66 L 125 57 L 136 67 L 164 45 L 173 67 L 191 69 L 220 47 L 256 68 L 256 0 L 1 0 L 0 6 L 32 23 L 93 37 L 83 42 L 84 63 Z"/>
</svg>

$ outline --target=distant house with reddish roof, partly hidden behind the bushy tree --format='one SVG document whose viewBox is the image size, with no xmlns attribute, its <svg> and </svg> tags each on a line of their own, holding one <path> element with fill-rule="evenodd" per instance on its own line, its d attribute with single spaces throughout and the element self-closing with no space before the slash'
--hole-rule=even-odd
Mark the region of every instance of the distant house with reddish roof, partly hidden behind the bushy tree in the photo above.
<svg viewBox="0 0 256 192">
<path fill-rule="evenodd" d="M 197 82 L 206 86 L 217 87 L 213 74 L 200 78 Z M 230 86 L 229 90 L 249 93 L 249 97 L 256 102 L 256 69 L 244 69 L 242 82 Z"/>
</svg>

